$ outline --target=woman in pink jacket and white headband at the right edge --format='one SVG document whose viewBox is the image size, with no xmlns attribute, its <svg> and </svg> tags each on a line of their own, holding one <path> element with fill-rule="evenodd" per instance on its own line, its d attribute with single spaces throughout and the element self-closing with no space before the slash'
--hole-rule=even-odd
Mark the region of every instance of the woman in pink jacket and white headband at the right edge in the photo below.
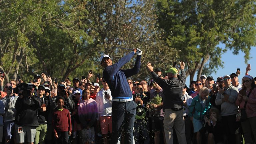
<svg viewBox="0 0 256 144">
<path fill-rule="evenodd" d="M 241 122 L 244 132 L 245 143 L 253 142 L 253 137 L 256 139 L 256 85 L 252 76 L 246 75 L 242 79 L 242 90 L 239 91 L 236 105 L 239 108 L 244 108 L 247 114 L 247 119 Z M 246 92 L 246 95 L 245 95 Z M 243 94 L 244 93 L 244 94 Z"/>
</svg>

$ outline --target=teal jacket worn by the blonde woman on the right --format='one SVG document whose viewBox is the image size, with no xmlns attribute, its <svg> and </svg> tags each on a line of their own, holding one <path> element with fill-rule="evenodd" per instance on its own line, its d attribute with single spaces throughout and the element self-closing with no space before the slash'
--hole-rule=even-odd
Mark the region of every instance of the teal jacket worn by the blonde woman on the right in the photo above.
<svg viewBox="0 0 256 144">
<path fill-rule="evenodd" d="M 200 103 L 199 100 L 199 94 L 196 97 L 194 97 L 191 102 L 191 105 L 189 106 L 189 117 L 193 116 L 197 120 L 203 120 L 204 115 L 211 108 L 210 99 L 211 97 L 208 96 L 205 107 L 202 107 L 202 104 Z"/>
</svg>

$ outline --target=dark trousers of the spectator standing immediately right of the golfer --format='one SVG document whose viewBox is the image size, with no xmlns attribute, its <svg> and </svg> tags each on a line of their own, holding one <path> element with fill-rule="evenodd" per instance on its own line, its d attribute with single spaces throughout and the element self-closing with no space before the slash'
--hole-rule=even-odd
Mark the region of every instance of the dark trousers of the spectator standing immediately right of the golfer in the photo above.
<svg viewBox="0 0 256 144">
<path fill-rule="evenodd" d="M 134 123 L 135 144 L 140 144 L 140 140 L 143 142 L 143 144 L 150 143 L 148 128 L 149 128 L 149 123 L 147 118 L 143 120 L 135 119 L 135 123 Z"/>
</svg>

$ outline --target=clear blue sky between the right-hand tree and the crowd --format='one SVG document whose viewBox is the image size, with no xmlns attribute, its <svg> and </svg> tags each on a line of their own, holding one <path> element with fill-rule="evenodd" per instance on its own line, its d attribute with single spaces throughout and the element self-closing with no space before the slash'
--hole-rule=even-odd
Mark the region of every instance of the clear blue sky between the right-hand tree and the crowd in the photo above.
<svg viewBox="0 0 256 144">
<path fill-rule="evenodd" d="M 253 77 L 256 76 L 256 47 L 252 47 L 250 51 L 251 59 L 248 60 L 248 64 L 251 64 L 251 71 L 249 74 Z M 222 54 L 221 60 L 224 62 L 224 68 L 219 68 L 217 73 L 212 73 L 214 80 L 219 76 L 224 76 L 225 74 L 230 75 L 231 73 L 235 73 L 237 68 L 240 68 L 240 76 L 238 77 L 239 83 L 242 83 L 242 77 L 245 75 L 245 70 L 247 67 L 247 63 L 244 61 L 244 53 L 239 52 L 238 55 L 234 55 L 232 51 L 228 50 L 226 53 Z M 197 74 L 194 76 L 194 80 L 196 80 Z M 187 77 L 186 85 L 189 86 L 190 77 Z"/>
</svg>

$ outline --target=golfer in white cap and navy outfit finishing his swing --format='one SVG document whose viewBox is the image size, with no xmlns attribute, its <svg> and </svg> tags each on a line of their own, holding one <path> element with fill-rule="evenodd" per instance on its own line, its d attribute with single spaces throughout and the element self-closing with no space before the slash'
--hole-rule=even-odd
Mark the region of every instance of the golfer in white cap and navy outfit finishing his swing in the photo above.
<svg viewBox="0 0 256 144">
<path fill-rule="evenodd" d="M 132 69 L 120 70 L 137 52 L 136 62 Z M 137 74 L 140 70 L 141 50 L 133 49 L 133 52 L 112 64 L 108 55 L 100 57 L 103 78 L 107 82 L 113 97 L 112 103 L 112 135 L 111 144 L 116 144 L 124 127 L 124 142 L 133 144 L 133 125 L 136 115 L 136 103 L 132 100 L 132 92 L 127 83 L 127 78 Z"/>
</svg>

